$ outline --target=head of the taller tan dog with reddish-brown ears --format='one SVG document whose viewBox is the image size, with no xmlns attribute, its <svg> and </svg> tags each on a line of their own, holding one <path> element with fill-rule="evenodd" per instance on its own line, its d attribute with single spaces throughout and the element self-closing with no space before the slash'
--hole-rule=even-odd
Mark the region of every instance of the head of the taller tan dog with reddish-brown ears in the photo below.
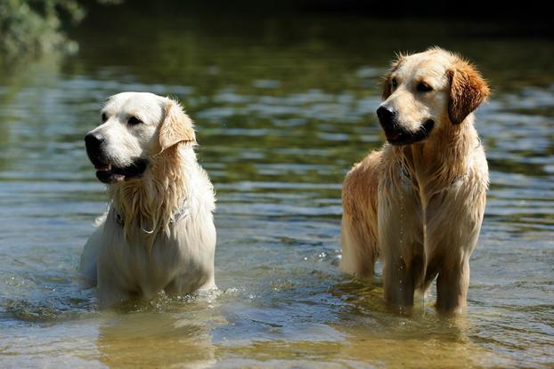
<svg viewBox="0 0 554 369">
<path fill-rule="evenodd" d="M 461 124 L 489 95 L 477 70 L 452 52 L 431 48 L 392 63 L 377 110 L 388 142 L 425 140 L 445 124 Z"/>
</svg>

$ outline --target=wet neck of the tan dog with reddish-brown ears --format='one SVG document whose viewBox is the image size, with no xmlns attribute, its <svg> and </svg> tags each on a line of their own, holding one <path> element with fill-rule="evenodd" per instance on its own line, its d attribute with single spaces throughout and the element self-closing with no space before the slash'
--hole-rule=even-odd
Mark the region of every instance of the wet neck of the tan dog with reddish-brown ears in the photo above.
<svg viewBox="0 0 554 369">
<path fill-rule="evenodd" d="M 420 192 L 440 191 L 468 173 L 470 152 L 481 144 L 473 121 L 470 114 L 461 124 L 445 122 L 428 140 L 395 148 Z"/>
</svg>

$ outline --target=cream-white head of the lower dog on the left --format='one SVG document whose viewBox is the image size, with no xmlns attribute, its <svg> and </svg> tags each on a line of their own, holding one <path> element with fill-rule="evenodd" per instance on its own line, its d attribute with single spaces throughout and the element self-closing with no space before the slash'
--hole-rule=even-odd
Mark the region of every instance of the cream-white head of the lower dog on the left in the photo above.
<svg viewBox="0 0 554 369">
<path fill-rule="evenodd" d="M 122 92 L 102 108 L 102 124 L 85 136 L 86 153 L 104 183 L 139 178 L 151 159 L 179 142 L 196 143 L 189 116 L 175 100 Z"/>
</svg>

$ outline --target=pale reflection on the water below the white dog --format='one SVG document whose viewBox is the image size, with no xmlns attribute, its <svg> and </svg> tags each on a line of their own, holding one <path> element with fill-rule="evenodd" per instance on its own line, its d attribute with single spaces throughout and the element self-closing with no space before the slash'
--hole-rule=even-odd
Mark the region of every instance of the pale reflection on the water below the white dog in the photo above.
<svg viewBox="0 0 554 369">
<path fill-rule="evenodd" d="M 138 309 L 116 314 L 99 327 L 96 348 L 102 364 L 165 366 L 186 364 L 206 368 L 216 363 L 210 329 L 224 324 L 214 307 L 206 303 L 169 305 L 162 311 Z"/>
</svg>

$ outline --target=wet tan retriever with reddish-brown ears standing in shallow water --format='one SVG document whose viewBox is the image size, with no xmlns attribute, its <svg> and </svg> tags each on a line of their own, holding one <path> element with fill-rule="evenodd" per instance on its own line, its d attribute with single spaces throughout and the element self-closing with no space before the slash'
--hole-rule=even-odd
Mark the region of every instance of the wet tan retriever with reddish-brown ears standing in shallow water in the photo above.
<svg viewBox="0 0 554 369">
<path fill-rule="evenodd" d="M 466 304 L 488 187 L 472 112 L 488 95 L 475 68 L 439 48 L 399 56 L 386 76 L 377 115 L 388 142 L 343 184 L 341 269 L 371 277 L 382 256 L 396 306 L 435 277 L 437 309 Z"/>
</svg>

